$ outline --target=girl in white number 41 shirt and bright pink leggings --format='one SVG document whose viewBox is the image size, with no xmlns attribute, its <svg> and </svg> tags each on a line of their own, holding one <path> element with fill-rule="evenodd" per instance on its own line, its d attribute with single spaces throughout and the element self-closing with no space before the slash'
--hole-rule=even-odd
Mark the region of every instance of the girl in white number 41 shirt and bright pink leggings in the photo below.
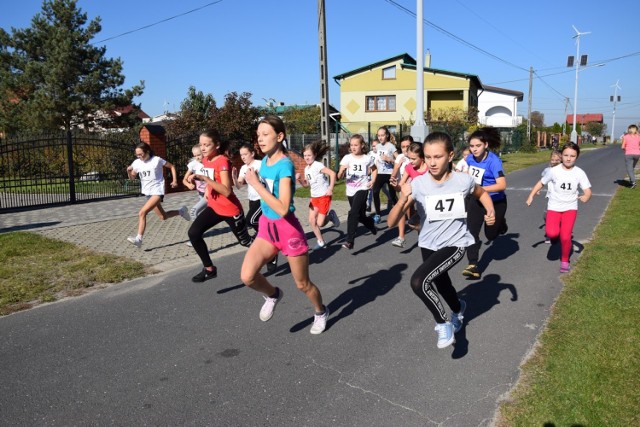
<svg viewBox="0 0 640 427">
<path fill-rule="evenodd" d="M 562 147 L 562 163 L 551 168 L 549 173 L 536 183 L 527 198 L 527 206 L 531 206 L 533 197 L 542 187 L 549 184 L 545 232 L 551 242 L 560 239 L 560 273 L 566 273 L 571 268 L 571 235 L 578 215 L 578 200 L 587 203 L 591 198 L 589 178 L 575 165 L 579 155 L 578 144 L 567 142 Z M 578 193 L 578 187 L 582 189 L 582 196 Z"/>
</svg>

